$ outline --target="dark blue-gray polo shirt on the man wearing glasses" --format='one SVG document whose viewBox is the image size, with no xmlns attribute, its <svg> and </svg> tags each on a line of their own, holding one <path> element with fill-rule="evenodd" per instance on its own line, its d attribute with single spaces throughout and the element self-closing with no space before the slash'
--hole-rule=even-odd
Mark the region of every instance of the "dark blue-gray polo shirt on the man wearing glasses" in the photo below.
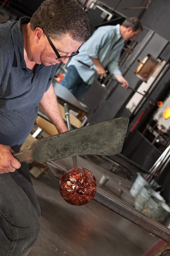
<svg viewBox="0 0 170 256">
<path fill-rule="evenodd" d="M 21 24 L 0 24 L 0 144 L 19 151 L 37 117 L 38 103 L 51 85 L 57 65 L 30 70 L 24 60 Z"/>
</svg>

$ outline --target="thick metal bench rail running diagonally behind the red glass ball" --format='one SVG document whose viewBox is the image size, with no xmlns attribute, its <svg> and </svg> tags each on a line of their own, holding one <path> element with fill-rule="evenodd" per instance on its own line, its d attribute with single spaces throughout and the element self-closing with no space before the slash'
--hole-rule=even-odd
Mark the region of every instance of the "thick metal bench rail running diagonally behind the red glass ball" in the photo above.
<svg viewBox="0 0 170 256">
<path fill-rule="evenodd" d="M 60 180 L 62 175 L 67 172 L 65 167 L 61 165 L 58 166 L 58 164 L 54 161 L 47 163 L 47 166 L 53 173 L 53 176 L 58 180 Z M 94 200 L 105 207 L 108 207 L 113 212 L 116 212 L 139 227 L 143 227 L 145 230 L 159 237 L 160 239 L 170 242 L 170 230 L 167 227 L 163 226 L 157 221 L 154 221 L 152 218 L 144 215 L 142 212 L 139 212 L 128 204 L 125 204 L 119 198 L 105 192 L 103 189 L 97 189 Z"/>
</svg>

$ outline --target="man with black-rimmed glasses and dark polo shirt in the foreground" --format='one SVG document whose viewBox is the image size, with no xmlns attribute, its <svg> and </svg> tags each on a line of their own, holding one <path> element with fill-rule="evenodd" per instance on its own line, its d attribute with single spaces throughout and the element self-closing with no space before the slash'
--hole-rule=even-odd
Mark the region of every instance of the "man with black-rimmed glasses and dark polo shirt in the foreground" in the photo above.
<svg viewBox="0 0 170 256">
<path fill-rule="evenodd" d="M 40 207 L 28 165 L 13 153 L 38 107 L 59 133 L 67 131 L 51 82 L 57 63 L 67 63 L 89 35 L 75 0 L 45 0 L 31 19 L 0 24 L 0 256 L 26 256 L 38 238 Z"/>
</svg>

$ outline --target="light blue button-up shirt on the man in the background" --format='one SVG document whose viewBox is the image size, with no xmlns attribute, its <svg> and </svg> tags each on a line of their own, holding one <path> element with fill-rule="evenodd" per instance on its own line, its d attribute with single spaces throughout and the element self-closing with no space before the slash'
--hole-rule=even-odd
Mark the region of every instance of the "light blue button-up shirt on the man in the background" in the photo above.
<svg viewBox="0 0 170 256">
<path fill-rule="evenodd" d="M 75 59 L 96 69 L 91 58 L 98 58 L 104 68 L 108 67 L 111 74 L 122 74 L 119 70 L 118 61 L 124 44 L 125 40 L 121 38 L 119 24 L 116 26 L 101 26 L 80 47 L 79 54 L 71 59 L 68 66 L 74 65 L 79 76 L 88 84 L 92 84 L 96 71 L 80 64 Z"/>
</svg>

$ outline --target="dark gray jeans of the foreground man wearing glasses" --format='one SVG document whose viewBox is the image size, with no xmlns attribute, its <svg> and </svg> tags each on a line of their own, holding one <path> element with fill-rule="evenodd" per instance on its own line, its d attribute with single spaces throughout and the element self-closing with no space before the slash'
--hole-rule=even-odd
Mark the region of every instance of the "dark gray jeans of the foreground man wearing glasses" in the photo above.
<svg viewBox="0 0 170 256">
<path fill-rule="evenodd" d="M 28 164 L 0 174 L 0 256 L 27 256 L 40 233 L 40 207 Z"/>
</svg>

